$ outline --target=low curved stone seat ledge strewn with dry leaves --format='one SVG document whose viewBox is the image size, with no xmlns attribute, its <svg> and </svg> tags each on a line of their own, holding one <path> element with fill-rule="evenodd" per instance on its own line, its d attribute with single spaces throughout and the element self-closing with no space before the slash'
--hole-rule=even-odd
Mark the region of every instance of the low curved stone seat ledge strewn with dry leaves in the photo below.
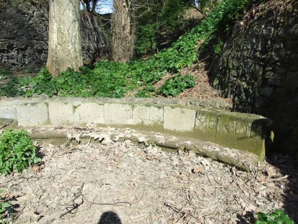
<svg viewBox="0 0 298 224">
<path fill-rule="evenodd" d="M 124 129 L 127 131 L 127 129 Z M 202 140 L 196 140 L 185 137 L 175 137 L 172 135 L 159 133 L 159 132 L 146 132 L 146 131 L 137 131 L 130 130 L 130 132 L 125 133 L 123 135 L 122 129 L 115 129 L 115 131 L 108 130 L 108 135 L 95 134 L 89 135 L 88 133 L 84 134 L 84 132 L 80 133 L 80 142 L 79 144 L 88 144 L 92 143 L 101 143 L 102 138 L 110 138 L 111 140 L 123 141 L 123 140 L 131 140 L 135 143 L 147 143 L 154 144 L 156 146 L 162 147 L 165 151 L 167 149 L 172 149 L 178 152 L 178 150 L 193 150 L 197 155 L 201 155 L 203 157 L 210 157 L 213 160 L 217 160 L 221 163 L 228 164 L 229 166 L 235 167 L 237 169 L 244 170 L 246 172 L 250 172 L 254 166 L 258 163 L 258 157 L 253 153 L 244 152 L 237 149 L 230 149 L 227 147 L 222 147 L 220 145 L 205 142 Z M 97 131 L 105 132 L 105 128 L 97 129 Z M 32 132 L 30 133 L 30 138 L 33 141 L 37 141 L 40 143 L 52 143 L 62 145 L 75 143 L 77 144 L 75 139 L 67 140 L 66 132 L 59 132 L 59 130 L 55 132 Z"/>
</svg>

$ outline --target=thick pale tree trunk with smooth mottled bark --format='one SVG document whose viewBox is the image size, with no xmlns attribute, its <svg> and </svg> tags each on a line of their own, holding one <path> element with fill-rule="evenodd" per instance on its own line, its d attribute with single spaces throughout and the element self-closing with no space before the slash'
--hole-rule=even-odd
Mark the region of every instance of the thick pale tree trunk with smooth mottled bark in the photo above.
<svg viewBox="0 0 298 224">
<path fill-rule="evenodd" d="M 83 66 L 79 0 L 49 0 L 49 52 L 46 67 L 52 76 Z"/>
</svg>

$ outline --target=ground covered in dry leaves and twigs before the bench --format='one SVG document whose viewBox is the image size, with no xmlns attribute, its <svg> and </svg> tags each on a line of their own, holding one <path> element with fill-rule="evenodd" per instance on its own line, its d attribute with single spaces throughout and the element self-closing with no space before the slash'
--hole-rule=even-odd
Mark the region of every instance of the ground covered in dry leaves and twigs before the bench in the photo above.
<svg viewBox="0 0 298 224">
<path fill-rule="evenodd" d="M 298 172 L 285 156 L 247 173 L 193 152 L 116 140 L 42 144 L 43 163 L 2 176 L 13 223 L 248 224 L 274 208 L 297 221 Z"/>
</svg>

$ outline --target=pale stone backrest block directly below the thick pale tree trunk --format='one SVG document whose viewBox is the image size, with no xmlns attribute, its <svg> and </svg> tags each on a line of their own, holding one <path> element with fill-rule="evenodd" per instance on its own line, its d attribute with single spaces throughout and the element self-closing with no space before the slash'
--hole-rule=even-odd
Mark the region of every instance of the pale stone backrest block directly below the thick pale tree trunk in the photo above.
<svg viewBox="0 0 298 224">
<path fill-rule="evenodd" d="M 74 121 L 74 106 L 72 103 L 49 103 L 49 122 L 51 125 L 73 125 Z"/>
</svg>

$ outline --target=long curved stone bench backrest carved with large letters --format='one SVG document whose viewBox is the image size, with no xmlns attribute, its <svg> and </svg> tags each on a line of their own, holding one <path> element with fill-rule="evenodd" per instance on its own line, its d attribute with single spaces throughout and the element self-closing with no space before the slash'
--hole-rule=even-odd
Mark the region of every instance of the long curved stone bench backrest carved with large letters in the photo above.
<svg viewBox="0 0 298 224">
<path fill-rule="evenodd" d="M 206 107 L 170 99 L 2 98 L 0 118 L 17 120 L 19 126 L 94 123 L 164 132 L 252 152 L 264 160 L 269 119 Z"/>
</svg>

